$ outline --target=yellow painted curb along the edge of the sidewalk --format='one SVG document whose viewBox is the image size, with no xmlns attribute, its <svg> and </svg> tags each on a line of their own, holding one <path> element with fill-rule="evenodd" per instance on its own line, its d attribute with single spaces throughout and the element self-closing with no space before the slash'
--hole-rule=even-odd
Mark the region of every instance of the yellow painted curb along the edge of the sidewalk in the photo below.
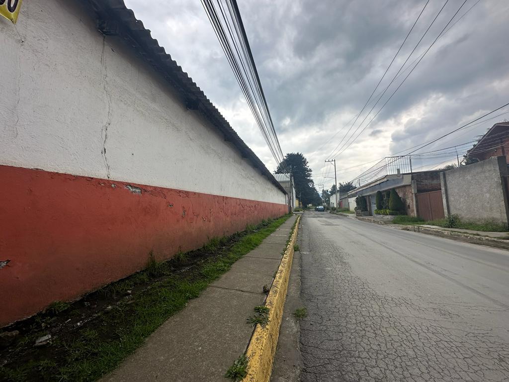
<svg viewBox="0 0 509 382">
<path fill-rule="evenodd" d="M 288 281 L 290 279 L 290 270 L 292 269 L 293 245 L 297 239 L 299 231 L 300 215 L 297 217 L 295 230 L 288 243 L 287 249 L 276 277 L 270 288 L 265 306 L 270 308 L 269 323 L 262 328 L 257 325 L 247 347 L 246 356 L 248 358 L 247 375 L 244 382 L 268 382 L 272 372 L 272 363 L 276 352 L 277 338 L 279 337 L 279 326 L 283 310 L 285 308 L 286 294 L 288 290 Z"/>
</svg>

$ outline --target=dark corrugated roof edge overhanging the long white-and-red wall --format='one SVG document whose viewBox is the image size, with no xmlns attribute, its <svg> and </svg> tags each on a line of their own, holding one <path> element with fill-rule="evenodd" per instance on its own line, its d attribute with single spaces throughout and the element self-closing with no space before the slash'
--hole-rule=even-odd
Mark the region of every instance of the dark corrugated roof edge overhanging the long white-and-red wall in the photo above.
<svg viewBox="0 0 509 382">
<path fill-rule="evenodd" d="M 120 36 L 126 45 L 132 47 L 139 57 L 152 66 L 154 71 L 164 77 L 180 94 L 182 102 L 188 109 L 202 113 L 224 135 L 225 141 L 231 142 L 251 166 L 260 170 L 281 192 L 287 194 L 192 78 L 166 53 L 164 47 L 152 38 L 150 30 L 145 29 L 143 22 L 136 19 L 134 12 L 125 6 L 124 0 L 81 0 L 81 3 L 90 10 L 99 32 L 104 35 Z"/>
</svg>

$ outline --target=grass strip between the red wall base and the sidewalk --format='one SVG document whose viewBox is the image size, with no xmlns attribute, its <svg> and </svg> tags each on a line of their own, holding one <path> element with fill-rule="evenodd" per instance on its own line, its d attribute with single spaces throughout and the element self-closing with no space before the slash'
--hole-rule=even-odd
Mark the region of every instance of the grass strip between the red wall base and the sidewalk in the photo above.
<svg viewBox="0 0 509 382">
<path fill-rule="evenodd" d="M 187 272 L 172 272 L 172 261 L 157 262 L 151 254 L 147 268 L 103 288 L 103 293 L 121 294 L 140 284 L 147 287 L 129 295 L 125 302 L 104 310 L 72 335 L 53 336 L 45 348 L 34 348 L 33 339 L 45 332 L 23 336 L 12 351 L 23 355 L 0 368 L 0 381 L 91 381 L 114 370 L 170 316 L 214 280 L 227 272 L 235 261 L 249 253 L 291 215 L 264 221 L 257 227 L 230 238 L 212 239 L 202 250 L 212 253 Z M 194 251 L 193 251 L 194 252 Z M 181 254 L 185 259 L 193 252 Z M 158 278 L 154 281 L 151 278 Z M 71 309 L 72 310 L 72 309 Z M 72 316 L 72 311 L 66 310 Z"/>
</svg>

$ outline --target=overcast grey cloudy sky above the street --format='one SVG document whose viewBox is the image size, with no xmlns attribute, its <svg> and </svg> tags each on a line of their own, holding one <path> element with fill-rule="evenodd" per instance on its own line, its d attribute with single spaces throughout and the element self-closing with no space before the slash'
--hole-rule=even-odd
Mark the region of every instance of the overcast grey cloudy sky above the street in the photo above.
<svg viewBox="0 0 509 382">
<path fill-rule="evenodd" d="M 430 46 L 463 1 L 448 0 L 407 65 Z M 445 2 L 429 1 L 375 94 L 397 74 Z M 200 0 L 125 3 L 273 171 L 275 160 Z M 316 184 L 325 183 L 329 188 L 334 182 L 331 167 L 324 171 L 324 160 L 344 139 L 352 118 L 370 97 L 425 3 L 238 0 L 282 151 L 302 152 Z M 355 130 L 354 137 L 358 138 L 336 157 L 338 181 L 351 180 L 379 158 L 437 138 L 509 102 L 509 2 L 476 3 L 466 1 L 449 24 L 454 25 L 437 40 L 373 122 L 367 125 L 410 72 L 405 71 L 406 66 L 361 125 L 378 97 L 367 106 L 343 142 L 352 141 Z M 503 112 L 509 112 L 509 107 L 494 115 Z M 509 119 L 509 113 L 461 130 L 421 151 L 469 142 L 503 119 Z M 447 159 L 416 159 L 413 164 L 432 168 L 444 160 L 447 163 Z"/>
</svg>

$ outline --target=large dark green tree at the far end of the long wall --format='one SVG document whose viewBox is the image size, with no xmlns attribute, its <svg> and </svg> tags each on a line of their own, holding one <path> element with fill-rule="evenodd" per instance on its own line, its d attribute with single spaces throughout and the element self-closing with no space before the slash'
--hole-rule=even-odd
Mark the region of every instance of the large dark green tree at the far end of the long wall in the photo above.
<svg viewBox="0 0 509 382">
<path fill-rule="evenodd" d="M 320 194 L 315 188 L 312 179 L 313 171 L 309 168 L 307 159 L 302 153 L 288 153 L 275 171 L 275 174 L 285 174 L 285 165 L 293 176 L 295 193 L 304 206 L 308 204 L 318 205 L 321 201 Z"/>
</svg>

